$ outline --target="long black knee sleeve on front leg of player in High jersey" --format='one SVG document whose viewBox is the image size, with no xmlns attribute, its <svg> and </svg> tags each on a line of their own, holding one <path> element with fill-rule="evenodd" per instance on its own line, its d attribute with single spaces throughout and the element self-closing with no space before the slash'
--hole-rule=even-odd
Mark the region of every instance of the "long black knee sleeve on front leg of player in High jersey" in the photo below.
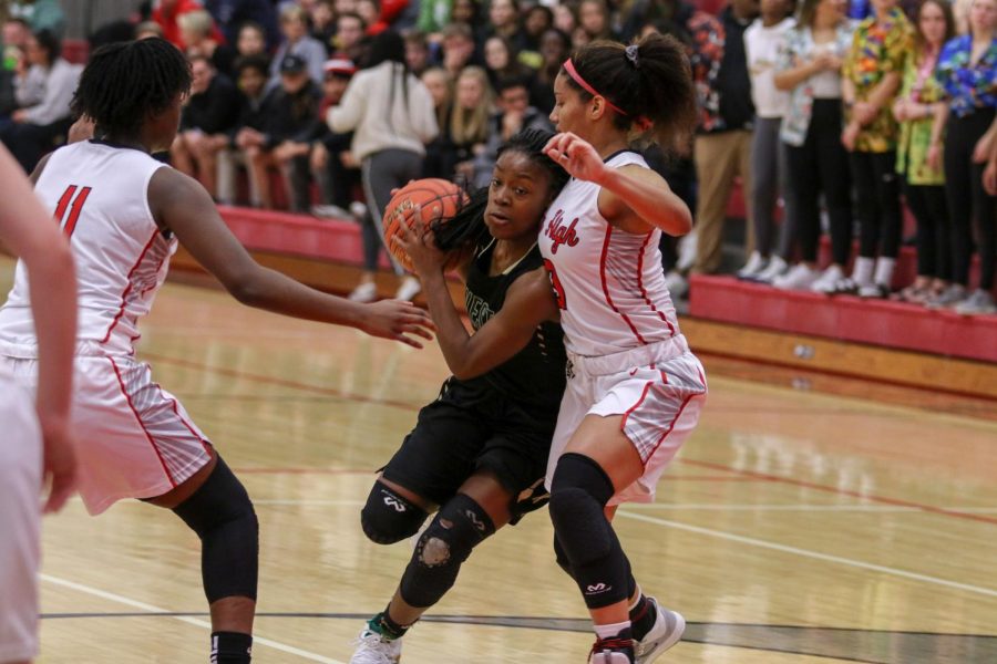
<svg viewBox="0 0 997 664">
<path fill-rule="evenodd" d="M 609 477 L 593 459 L 568 453 L 557 460 L 549 505 L 555 551 L 563 550 L 565 571 L 578 583 L 589 609 L 628 596 L 629 562 L 604 511 L 614 492 Z"/>
</svg>

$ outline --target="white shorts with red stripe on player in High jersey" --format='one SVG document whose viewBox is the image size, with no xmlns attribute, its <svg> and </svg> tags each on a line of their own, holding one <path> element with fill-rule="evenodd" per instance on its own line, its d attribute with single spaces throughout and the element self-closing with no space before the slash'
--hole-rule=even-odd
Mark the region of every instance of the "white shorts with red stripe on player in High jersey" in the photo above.
<svg viewBox="0 0 997 664">
<path fill-rule="evenodd" d="M 645 469 L 609 505 L 654 502 L 661 474 L 696 428 L 706 402 L 706 373 L 686 339 L 679 334 L 598 357 L 568 353 L 567 371 L 547 463 L 547 487 L 557 459 L 587 415 L 621 415 L 620 429 L 634 444 Z"/>
</svg>

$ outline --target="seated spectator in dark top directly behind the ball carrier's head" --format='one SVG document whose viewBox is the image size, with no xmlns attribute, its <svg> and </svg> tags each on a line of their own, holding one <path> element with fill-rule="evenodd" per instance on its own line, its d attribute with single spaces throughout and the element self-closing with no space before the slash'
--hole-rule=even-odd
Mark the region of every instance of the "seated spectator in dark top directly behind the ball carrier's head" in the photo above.
<svg viewBox="0 0 997 664">
<path fill-rule="evenodd" d="M 474 187 L 486 187 L 492 180 L 498 148 L 523 129 L 551 132 L 547 114 L 530 105 L 530 79 L 502 79 L 495 87 L 498 111 L 489 121 L 489 137 L 484 149 L 474 157 Z"/>
</svg>

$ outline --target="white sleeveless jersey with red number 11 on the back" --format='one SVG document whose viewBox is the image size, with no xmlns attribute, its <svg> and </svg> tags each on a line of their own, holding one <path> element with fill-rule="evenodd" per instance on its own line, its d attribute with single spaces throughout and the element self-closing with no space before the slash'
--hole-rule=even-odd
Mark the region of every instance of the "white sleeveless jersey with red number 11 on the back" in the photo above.
<svg viewBox="0 0 997 664">
<path fill-rule="evenodd" d="M 138 320 L 148 313 L 177 246 L 156 227 L 148 208 L 148 183 L 163 166 L 141 151 L 86 141 L 52 153 L 34 187 L 69 237 L 75 259 L 78 353 L 134 353 Z M 0 309 L 0 353 L 38 354 L 21 262 Z"/>
</svg>

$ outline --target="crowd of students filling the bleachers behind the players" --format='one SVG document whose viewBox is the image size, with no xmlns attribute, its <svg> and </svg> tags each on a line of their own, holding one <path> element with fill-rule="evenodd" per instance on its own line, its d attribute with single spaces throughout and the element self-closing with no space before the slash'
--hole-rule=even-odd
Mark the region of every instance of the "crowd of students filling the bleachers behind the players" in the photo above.
<svg viewBox="0 0 997 664">
<path fill-rule="evenodd" d="M 400 90 L 422 126 L 419 145 L 408 146 L 418 164 L 407 173 L 481 185 L 504 139 L 551 127 L 553 81 L 573 49 L 657 31 L 687 45 L 700 110 L 690 145 L 667 158 L 647 155 L 696 212 L 687 246 L 669 239 L 662 247 L 677 294 L 689 272 L 726 269 L 727 204 L 739 177 L 748 218 L 740 278 L 997 311 L 997 0 L 731 0 L 717 13 L 682 0 L 146 4 L 137 37 L 172 41 L 195 73 L 172 163 L 220 203 L 275 207 L 277 173 L 290 209 L 366 220 L 367 273 L 357 299 L 377 297 L 377 200 L 388 184 L 372 190 L 361 175 L 358 142 L 363 153 L 370 136 L 358 141 L 357 126 L 337 132 L 328 120 L 357 71 L 381 64 L 371 60 L 379 34 L 403 40 Z M 51 34 L 32 33 L 24 19 L 4 27 L 4 43 L 23 48 L 25 58 L 0 133 L 25 168 L 66 121 L 45 116 L 39 131 L 21 126 L 39 103 L 29 92 L 44 89 L 37 82 L 45 72 L 59 91 L 49 96 L 68 107 L 66 89 L 79 75 L 60 61 Z M 429 93 L 418 92 L 415 105 L 409 82 Z M 239 168 L 247 187 L 237 186 Z M 913 283 L 894 280 L 904 206 L 916 219 L 916 237 L 906 238 L 917 248 Z M 822 234 L 830 237 L 826 267 L 819 266 Z M 403 281 L 399 294 L 418 288 Z"/>
</svg>

